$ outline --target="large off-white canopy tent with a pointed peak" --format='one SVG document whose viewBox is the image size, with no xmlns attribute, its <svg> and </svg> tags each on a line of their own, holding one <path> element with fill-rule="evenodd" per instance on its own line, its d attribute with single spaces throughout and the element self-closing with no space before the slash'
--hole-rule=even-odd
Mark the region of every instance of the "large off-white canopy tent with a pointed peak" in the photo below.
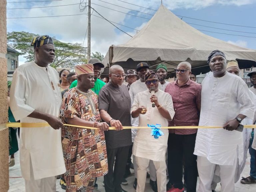
<svg viewBox="0 0 256 192">
<path fill-rule="evenodd" d="M 256 50 L 247 49 L 205 35 L 191 27 L 161 5 L 150 21 L 127 43 L 112 45 L 103 60 L 105 67 L 119 64 L 125 69 L 136 68 L 145 61 L 151 69 L 164 62 L 168 72 L 178 63 L 188 61 L 192 72 L 208 72 L 207 57 L 219 49 L 227 60 L 237 59 L 240 68 L 256 66 Z"/>
</svg>

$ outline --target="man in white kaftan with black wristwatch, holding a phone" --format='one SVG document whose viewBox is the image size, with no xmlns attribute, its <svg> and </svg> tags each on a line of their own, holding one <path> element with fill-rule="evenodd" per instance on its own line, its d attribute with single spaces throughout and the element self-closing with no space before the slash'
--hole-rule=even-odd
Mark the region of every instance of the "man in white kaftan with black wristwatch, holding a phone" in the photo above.
<svg viewBox="0 0 256 192">
<path fill-rule="evenodd" d="M 226 72 L 226 57 L 215 50 L 208 63 L 212 72 L 202 82 L 199 126 L 223 128 L 199 129 L 194 154 L 200 177 L 199 192 L 211 192 L 216 165 L 220 166 L 221 192 L 234 191 L 237 146 L 243 145 L 242 132 L 235 131 L 245 118 L 253 118 L 254 104 L 245 82 Z M 238 161 L 243 159 L 243 151 Z"/>
</svg>

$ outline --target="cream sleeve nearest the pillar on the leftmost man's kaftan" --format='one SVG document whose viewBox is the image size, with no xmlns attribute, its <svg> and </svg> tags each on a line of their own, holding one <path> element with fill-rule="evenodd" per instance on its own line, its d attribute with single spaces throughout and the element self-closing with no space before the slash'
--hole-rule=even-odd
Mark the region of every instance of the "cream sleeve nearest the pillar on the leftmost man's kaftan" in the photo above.
<svg viewBox="0 0 256 192">
<path fill-rule="evenodd" d="M 26 104 L 27 79 L 23 71 L 16 69 L 10 89 L 10 108 L 16 121 L 30 115 L 35 109 Z M 24 86 L 25 85 L 25 86 Z M 15 91 L 14 91 L 15 90 Z"/>
</svg>

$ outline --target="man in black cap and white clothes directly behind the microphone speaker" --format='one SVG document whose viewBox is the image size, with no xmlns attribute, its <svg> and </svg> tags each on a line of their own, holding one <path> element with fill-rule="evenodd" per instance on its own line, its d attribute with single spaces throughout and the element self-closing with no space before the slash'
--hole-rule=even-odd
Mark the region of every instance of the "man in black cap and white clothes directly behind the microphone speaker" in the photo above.
<svg viewBox="0 0 256 192">
<path fill-rule="evenodd" d="M 145 62 L 141 62 L 137 65 L 136 71 L 139 76 L 139 80 L 135 81 L 133 84 L 131 84 L 129 93 L 131 97 L 131 102 L 133 104 L 135 96 L 142 91 L 146 91 L 148 88 L 145 84 L 145 74 L 149 71 L 149 66 Z M 158 82 L 159 88 L 161 89 L 161 84 Z M 139 125 L 139 118 L 132 118 L 131 124 L 133 127 L 137 127 Z M 136 136 L 137 129 L 132 129 L 132 142 L 134 141 L 134 138 Z M 133 187 L 136 189 L 137 187 L 137 163 L 135 156 L 133 156 L 133 166 L 134 166 L 134 175 L 135 175 L 135 180 Z M 153 189 L 153 191 L 157 191 L 157 183 L 156 183 L 156 168 L 155 165 L 153 164 L 153 161 L 149 162 L 149 172 L 150 172 L 150 185 Z"/>
</svg>

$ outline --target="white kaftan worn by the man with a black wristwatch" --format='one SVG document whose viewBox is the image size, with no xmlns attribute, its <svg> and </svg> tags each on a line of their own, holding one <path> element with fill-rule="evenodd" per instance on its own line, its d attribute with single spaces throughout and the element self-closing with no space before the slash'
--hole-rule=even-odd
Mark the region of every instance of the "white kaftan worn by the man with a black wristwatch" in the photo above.
<svg viewBox="0 0 256 192">
<path fill-rule="evenodd" d="M 208 73 L 202 82 L 199 126 L 223 126 L 238 114 L 248 118 L 253 118 L 254 114 L 245 82 L 230 73 L 220 78 Z M 243 146 L 243 134 L 239 131 L 198 129 L 194 154 L 206 157 L 213 164 L 233 165 L 238 145 Z M 239 162 L 242 159 L 243 150 L 239 151 Z"/>
</svg>

